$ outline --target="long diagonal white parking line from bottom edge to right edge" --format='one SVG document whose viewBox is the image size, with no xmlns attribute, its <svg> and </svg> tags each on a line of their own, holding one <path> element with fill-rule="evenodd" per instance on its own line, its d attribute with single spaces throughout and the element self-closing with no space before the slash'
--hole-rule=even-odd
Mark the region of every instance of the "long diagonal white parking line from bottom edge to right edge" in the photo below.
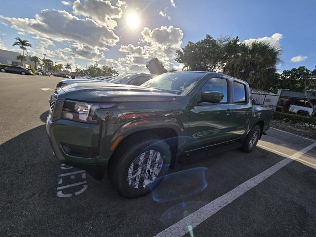
<svg viewBox="0 0 316 237">
<path fill-rule="evenodd" d="M 178 221 L 177 223 L 173 224 L 167 229 L 161 231 L 155 237 L 169 237 L 169 236 L 180 237 L 180 236 L 185 235 L 188 232 L 191 232 L 193 228 L 197 227 L 203 221 L 210 218 L 212 215 L 214 215 L 216 212 L 221 210 L 223 207 L 227 206 L 229 203 L 231 203 L 232 201 L 234 201 L 235 199 L 243 195 L 245 192 L 249 191 L 256 185 L 260 184 L 262 181 L 264 181 L 265 179 L 269 178 L 271 175 L 276 173 L 276 171 L 280 170 L 281 168 L 283 168 L 285 165 L 289 164 L 293 160 L 299 158 L 301 155 L 305 154 L 306 152 L 308 152 L 315 146 L 316 146 L 316 142 L 294 153 L 291 156 L 286 155 L 287 158 L 281 160 L 280 162 L 273 165 L 269 169 L 263 171 L 262 173 L 256 175 L 255 177 L 240 184 L 239 186 L 227 192 L 223 196 L 218 197 L 212 202 L 206 204 L 205 206 L 201 207 L 197 211 L 188 215 L 184 219 Z"/>
</svg>

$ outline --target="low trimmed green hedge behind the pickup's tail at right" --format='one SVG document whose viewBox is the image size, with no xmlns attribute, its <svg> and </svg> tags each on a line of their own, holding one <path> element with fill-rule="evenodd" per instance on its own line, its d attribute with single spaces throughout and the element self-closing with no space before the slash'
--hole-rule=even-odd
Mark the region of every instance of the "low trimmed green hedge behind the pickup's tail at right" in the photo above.
<svg viewBox="0 0 316 237">
<path fill-rule="evenodd" d="M 295 114 L 287 114 L 278 111 L 273 112 L 273 119 L 281 120 L 287 123 L 299 123 L 302 125 L 308 125 L 310 127 L 316 126 L 316 118 L 315 117 L 307 117 Z"/>
</svg>

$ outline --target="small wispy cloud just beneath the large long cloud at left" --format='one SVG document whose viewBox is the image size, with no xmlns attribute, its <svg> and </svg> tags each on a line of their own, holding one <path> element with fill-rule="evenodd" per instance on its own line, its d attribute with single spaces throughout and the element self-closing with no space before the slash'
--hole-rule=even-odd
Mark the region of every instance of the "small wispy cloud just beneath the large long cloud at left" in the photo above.
<svg viewBox="0 0 316 237">
<path fill-rule="evenodd" d="M 81 45 L 78 43 L 72 44 L 69 48 L 64 48 L 63 52 L 67 52 L 69 55 L 81 59 L 99 60 L 104 57 L 103 52 L 100 52 L 97 47 L 93 48 L 89 45 Z"/>
</svg>

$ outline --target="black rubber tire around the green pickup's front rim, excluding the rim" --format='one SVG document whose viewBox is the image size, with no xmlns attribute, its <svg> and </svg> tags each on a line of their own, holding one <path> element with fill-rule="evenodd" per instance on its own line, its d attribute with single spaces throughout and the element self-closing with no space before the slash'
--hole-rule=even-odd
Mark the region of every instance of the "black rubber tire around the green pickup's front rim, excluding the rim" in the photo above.
<svg viewBox="0 0 316 237">
<path fill-rule="evenodd" d="M 157 187 L 162 181 L 161 176 L 167 172 L 171 160 L 170 148 L 161 138 L 152 134 L 143 134 L 139 138 L 133 137 L 122 142 L 123 144 L 118 147 L 118 150 L 115 151 L 108 164 L 109 179 L 114 189 L 122 197 L 135 198 L 144 196 Z M 128 182 L 128 170 L 133 161 L 135 162 L 142 153 L 150 150 L 158 151 L 161 154 L 163 161 L 161 171 L 156 180 L 150 183 L 150 185 L 147 185 L 145 188 L 135 188 Z M 142 174 L 144 173 L 142 172 Z"/>
</svg>

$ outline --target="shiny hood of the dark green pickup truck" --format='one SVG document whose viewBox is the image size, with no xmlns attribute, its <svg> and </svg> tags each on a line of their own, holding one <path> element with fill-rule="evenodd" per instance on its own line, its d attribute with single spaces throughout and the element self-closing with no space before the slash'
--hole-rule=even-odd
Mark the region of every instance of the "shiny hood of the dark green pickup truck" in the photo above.
<svg viewBox="0 0 316 237">
<path fill-rule="evenodd" d="M 157 89 L 106 82 L 70 84 L 61 87 L 58 94 L 65 99 L 84 102 L 168 102 L 179 96 Z"/>
</svg>

